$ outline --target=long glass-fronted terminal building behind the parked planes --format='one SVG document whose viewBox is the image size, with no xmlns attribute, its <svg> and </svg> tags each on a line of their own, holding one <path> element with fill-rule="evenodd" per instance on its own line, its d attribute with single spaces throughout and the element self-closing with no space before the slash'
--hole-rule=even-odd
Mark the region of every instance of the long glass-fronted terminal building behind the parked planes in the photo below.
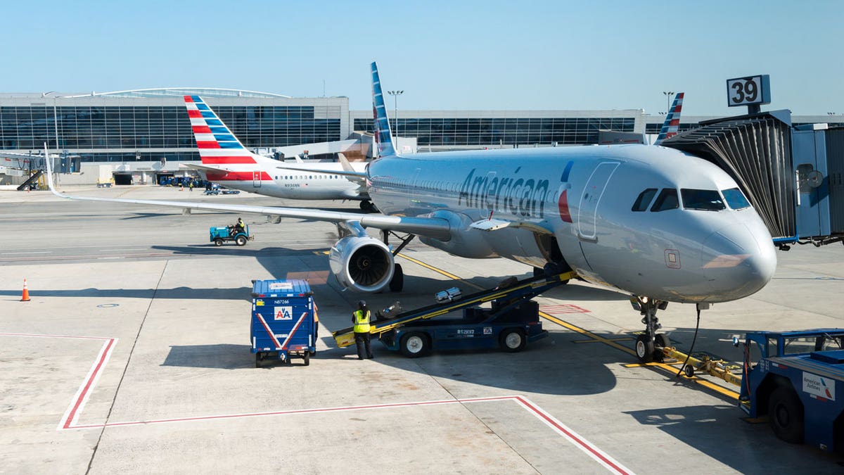
<svg viewBox="0 0 844 475">
<path fill-rule="evenodd" d="M 263 155 L 330 160 L 371 156 L 372 112 L 349 98 L 296 98 L 249 90 L 166 88 L 89 94 L 0 94 L 0 184 L 28 174 L 19 156 L 62 154 L 63 183 L 156 183 L 199 161 L 182 96 L 203 96 L 235 136 Z M 661 115 L 609 111 L 394 111 L 400 150 L 591 145 L 602 131 L 657 134 Z M 680 130 L 713 117 L 682 116 Z M 844 116 L 794 116 L 793 123 L 844 123 Z M 18 157 L 17 159 L 15 157 Z M 104 175 L 105 173 L 105 175 Z"/>
</svg>

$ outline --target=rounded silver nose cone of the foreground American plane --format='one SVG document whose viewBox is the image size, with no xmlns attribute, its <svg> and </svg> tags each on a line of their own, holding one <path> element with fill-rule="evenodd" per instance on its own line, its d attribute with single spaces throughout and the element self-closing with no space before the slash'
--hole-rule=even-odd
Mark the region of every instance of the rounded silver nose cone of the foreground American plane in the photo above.
<svg viewBox="0 0 844 475">
<path fill-rule="evenodd" d="M 744 298 L 759 291 L 776 270 L 776 249 L 761 222 L 734 223 L 713 232 L 701 251 L 702 270 L 719 300 Z"/>
</svg>

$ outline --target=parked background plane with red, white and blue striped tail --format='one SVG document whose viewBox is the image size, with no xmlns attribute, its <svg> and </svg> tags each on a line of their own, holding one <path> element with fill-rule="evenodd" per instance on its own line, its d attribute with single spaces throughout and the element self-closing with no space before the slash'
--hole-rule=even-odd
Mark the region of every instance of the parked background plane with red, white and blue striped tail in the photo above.
<svg viewBox="0 0 844 475">
<path fill-rule="evenodd" d="M 286 199 L 354 199 L 361 210 L 374 210 L 363 177 L 366 164 L 288 164 L 247 150 L 199 96 L 186 96 L 187 115 L 197 140 L 202 165 L 192 168 L 205 173 L 208 181 Z M 342 155 L 342 154 L 341 154 Z"/>
</svg>

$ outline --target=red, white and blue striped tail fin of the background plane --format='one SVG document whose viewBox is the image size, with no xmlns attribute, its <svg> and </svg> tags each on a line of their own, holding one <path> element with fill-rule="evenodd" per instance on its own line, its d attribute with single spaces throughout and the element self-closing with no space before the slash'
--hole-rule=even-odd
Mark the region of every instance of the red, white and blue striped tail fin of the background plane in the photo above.
<svg viewBox="0 0 844 475">
<path fill-rule="evenodd" d="M 191 117 L 193 137 L 197 140 L 203 165 L 257 164 L 271 160 L 246 149 L 217 114 L 200 96 L 184 96 L 187 115 Z"/>
</svg>

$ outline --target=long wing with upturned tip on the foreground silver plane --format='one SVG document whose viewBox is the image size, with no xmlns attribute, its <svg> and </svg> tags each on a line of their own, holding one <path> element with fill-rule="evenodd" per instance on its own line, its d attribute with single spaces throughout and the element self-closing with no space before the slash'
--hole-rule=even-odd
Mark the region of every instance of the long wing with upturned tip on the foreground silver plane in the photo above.
<svg viewBox="0 0 844 475">
<path fill-rule="evenodd" d="M 181 208 L 182 210 L 208 210 L 208 211 L 229 211 L 232 213 L 248 213 L 255 215 L 280 216 L 285 218 L 299 218 L 313 221 L 326 221 L 332 223 L 358 222 L 363 227 L 374 227 L 376 229 L 388 229 L 395 232 L 409 232 L 418 236 L 429 236 L 437 239 L 451 238 L 451 230 L 448 221 L 441 218 L 428 217 L 407 217 L 387 216 L 381 214 L 359 214 L 342 211 L 314 210 L 308 208 L 285 208 L 281 206 L 254 206 L 254 205 L 222 205 L 203 203 L 195 201 L 168 201 L 160 199 L 126 199 L 126 198 L 95 198 L 89 196 L 73 196 L 59 193 L 52 180 L 52 167 L 47 162 L 47 185 L 52 194 L 64 199 L 77 199 L 83 201 L 100 201 L 109 203 L 127 203 L 132 205 L 168 206 Z"/>
</svg>

